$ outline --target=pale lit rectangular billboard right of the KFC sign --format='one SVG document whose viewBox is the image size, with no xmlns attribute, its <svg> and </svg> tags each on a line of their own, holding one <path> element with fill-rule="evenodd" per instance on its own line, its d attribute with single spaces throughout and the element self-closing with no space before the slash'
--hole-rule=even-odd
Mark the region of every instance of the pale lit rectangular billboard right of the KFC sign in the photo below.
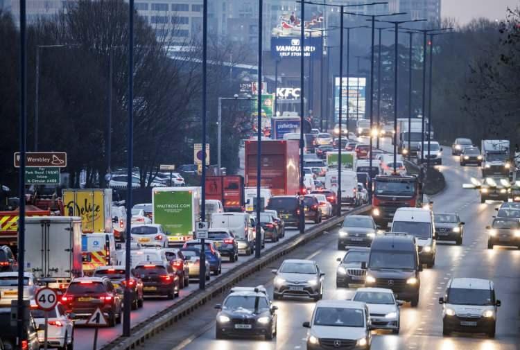
<svg viewBox="0 0 520 350">
<path fill-rule="evenodd" d="M 348 113 L 350 119 L 365 119 L 366 111 L 366 90 L 367 78 L 357 77 L 343 77 L 341 93 L 342 105 L 342 119 L 347 118 L 347 100 Z M 334 77 L 334 121 L 338 123 L 340 119 L 340 78 Z M 348 98 L 347 98 L 348 96 Z"/>
</svg>

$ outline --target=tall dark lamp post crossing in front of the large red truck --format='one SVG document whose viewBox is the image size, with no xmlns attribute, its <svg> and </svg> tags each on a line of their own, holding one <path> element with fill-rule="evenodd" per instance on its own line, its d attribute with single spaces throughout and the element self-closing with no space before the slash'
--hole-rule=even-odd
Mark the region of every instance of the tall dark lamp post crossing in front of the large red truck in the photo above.
<svg viewBox="0 0 520 350">
<path fill-rule="evenodd" d="M 261 226 L 260 226 L 260 182 L 261 182 L 261 154 L 262 154 L 262 14 L 263 14 L 263 0 L 259 0 L 258 3 L 258 97 L 257 97 L 257 113 L 258 113 L 258 124 L 257 124 L 257 228 L 254 245 L 254 256 L 260 257 L 261 250 Z M 302 42 L 302 47 L 304 46 Z"/>
</svg>

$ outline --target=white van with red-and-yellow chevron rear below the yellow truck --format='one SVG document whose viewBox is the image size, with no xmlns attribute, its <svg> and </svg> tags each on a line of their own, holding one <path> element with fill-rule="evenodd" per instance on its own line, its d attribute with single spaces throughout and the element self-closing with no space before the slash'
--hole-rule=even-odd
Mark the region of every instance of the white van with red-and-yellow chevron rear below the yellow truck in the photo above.
<svg viewBox="0 0 520 350">
<path fill-rule="evenodd" d="M 94 233 L 81 235 L 83 274 L 90 276 L 98 266 L 115 265 L 116 240 L 114 234 Z"/>
</svg>

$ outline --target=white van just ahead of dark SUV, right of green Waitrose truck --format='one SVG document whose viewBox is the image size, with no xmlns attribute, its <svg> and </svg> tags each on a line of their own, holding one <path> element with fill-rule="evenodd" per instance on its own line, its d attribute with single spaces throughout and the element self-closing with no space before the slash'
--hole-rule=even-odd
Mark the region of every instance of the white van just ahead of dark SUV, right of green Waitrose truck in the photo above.
<svg viewBox="0 0 520 350">
<path fill-rule="evenodd" d="M 249 213 L 215 213 L 211 216 L 212 229 L 229 229 L 239 244 L 239 254 L 254 251 L 254 233 Z"/>
</svg>

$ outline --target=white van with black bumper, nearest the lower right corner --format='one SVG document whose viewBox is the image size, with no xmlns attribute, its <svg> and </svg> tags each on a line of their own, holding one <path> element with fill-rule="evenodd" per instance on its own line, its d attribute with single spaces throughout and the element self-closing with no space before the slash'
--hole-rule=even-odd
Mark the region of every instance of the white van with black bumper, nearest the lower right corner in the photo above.
<svg viewBox="0 0 520 350">
<path fill-rule="evenodd" d="M 446 295 L 439 298 L 442 305 L 442 335 L 451 332 L 486 333 L 494 338 L 496 300 L 494 285 L 487 279 L 451 279 Z"/>
</svg>

